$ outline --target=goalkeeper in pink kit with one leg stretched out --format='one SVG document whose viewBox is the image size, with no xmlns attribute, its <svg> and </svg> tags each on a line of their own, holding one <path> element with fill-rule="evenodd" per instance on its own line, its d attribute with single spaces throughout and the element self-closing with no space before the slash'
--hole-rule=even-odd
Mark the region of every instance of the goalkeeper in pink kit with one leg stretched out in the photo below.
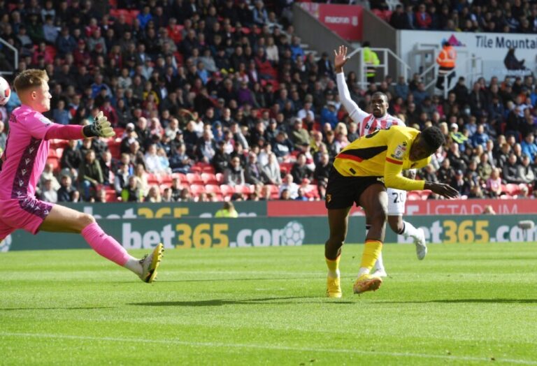
<svg viewBox="0 0 537 366">
<path fill-rule="evenodd" d="M 47 161 L 51 139 L 76 140 L 115 135 L 110 122 L 99 112 L 88 126 L 63 126 L 42 115 L 50 110 L 48 75 L 45 71 L 22 71 L 14 81 L 22 105 L 9 121 L 6 149 L 0 170 L 0 242 L 16 229 L 32 234 L 80 233 L 98 254 L 152 282 L 162 258 L 163 246 L 142 259 L 130 256 L 113 237 L 106 235 L 94 217 L 69 207 L 38 200 L 36 184 Z"/>
</svg>

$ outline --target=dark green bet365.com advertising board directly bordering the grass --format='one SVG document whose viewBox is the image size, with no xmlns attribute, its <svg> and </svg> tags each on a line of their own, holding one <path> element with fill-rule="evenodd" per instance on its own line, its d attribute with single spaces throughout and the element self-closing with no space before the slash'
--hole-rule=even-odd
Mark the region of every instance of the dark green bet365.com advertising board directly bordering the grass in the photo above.
<svg viewBox="0 0 537 366">
<path fill-rule="evenodd" d="M 487 244 L 494 242 L 535 242 L 537 228 L 522 229 L 520 221 L 537 220 L 531 215 L 415 216 L 410 219 L 424 229 L 431 243 Z M 233 247 L 278 247 L 321 244 L 328 235 L 326 217 L 241 217 L 238 219 L 180 218 L 100 219 L 106 233 L 127 249 L 149 249 L 159 242 L 167 249 L 208 249 Z M 364 242 L 365 219 L 350 218 L 347 243 Z M 387 230 L 386 242 L 410 243 Z M 80 235 L 17 230 L 0 244 L 0 251 L 36 249 L 87 249 Z"/>
</svg>

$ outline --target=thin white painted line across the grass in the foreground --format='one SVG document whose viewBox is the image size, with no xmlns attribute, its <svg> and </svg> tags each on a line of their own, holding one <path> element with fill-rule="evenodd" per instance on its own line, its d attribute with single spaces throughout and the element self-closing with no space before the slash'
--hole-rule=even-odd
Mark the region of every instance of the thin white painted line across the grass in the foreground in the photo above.
<svg viewBox="0 0 537 366">
<path fill-rule="evenodd" d="M 490 358 L 473 357 L 473 356 L 452 356 L 452 355 L 431 355 L 427 353 L 405 353 L 405 352 L 388 352 L 388 351 L 361 351 L 359 349 L 317 349 L 308 347 L 289 347 L 275 346 L 266 344 L 235 344 L 235 343 L 216 343 L 216 342 L 188 342 L 179 339 L 141 339 L 141 338 L 117 338 L 117 337 L 89 337 L 85 335 L 50 335 L 39 333 L 15 333 L 0 332 L 4 337 L 35 337 L 48 339 L 80 339 L 101 342 L 136 342 L 145 344 L 177 344 L 181 346 L 194 347 L 222 347 L 222 348 L 240 348 L 240 349 L 268 349 L 273 351 L 297 351 L 297 352 L 322 352 L 322 353 L 348 353 L 358 355 L 377 355 L 377 356 L 394 356 L 394 357 L 415 357 L 415 358 L 434 358 L 441 360 L 461 360 L 461 361 L 481 361 L 489 362 Z M 495 358 L 496 363 L 510 363 L 518 365 L 537 365 L 537 361 L 531 360 L 514 360 L 510 358 Z"/>
</svg>

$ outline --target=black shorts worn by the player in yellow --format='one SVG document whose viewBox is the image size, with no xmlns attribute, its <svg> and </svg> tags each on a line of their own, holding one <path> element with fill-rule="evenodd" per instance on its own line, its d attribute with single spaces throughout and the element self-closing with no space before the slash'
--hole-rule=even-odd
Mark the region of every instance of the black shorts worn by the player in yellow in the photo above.
<svg viewBox="0 0 537 366">
<path fill-rule="evenodd" d="M 384 177 L 345 177 L 333 167 L 328 177 L 324 206 L 329 210 L 351 207 L 353 203 L 359 206 L 361 193 L 373 184 L 384 186 Z"/>
</svg>

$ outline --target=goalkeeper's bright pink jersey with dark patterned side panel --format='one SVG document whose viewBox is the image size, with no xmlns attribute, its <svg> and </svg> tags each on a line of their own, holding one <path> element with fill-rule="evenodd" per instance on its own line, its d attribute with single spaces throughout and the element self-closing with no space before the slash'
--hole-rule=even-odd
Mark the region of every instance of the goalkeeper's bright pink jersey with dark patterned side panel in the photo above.
<svg viewBox="0 0 537 366">
<path fill-rule="evenodd" d="M 2 155 L 0 200 L 34 196 L 47 161 L 50 142 L 45 134 L 52 122 L 21 105 L 11 113 L 8 140 Z"/>
</svg>

